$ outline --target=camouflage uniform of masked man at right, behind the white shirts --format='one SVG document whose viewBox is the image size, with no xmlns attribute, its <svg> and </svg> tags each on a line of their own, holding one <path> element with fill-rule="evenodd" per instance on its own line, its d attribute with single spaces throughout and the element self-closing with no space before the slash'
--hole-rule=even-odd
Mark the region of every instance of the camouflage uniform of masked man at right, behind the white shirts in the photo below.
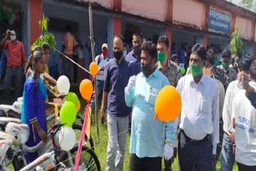
<svg viewBox="0 0 256 171">
<path fill-rule="evenodd" d="M 234 80 L 237 79 L 237 73 L 233 68 L 230 68 L 230 67 L 228 70 L 224 70 L 223 66 L 221 65 L 221 66 L 217 66 L 217 70 L 214 74 L 214 78 L 222 82 L 226 91 L 227 86 L 230 84 L 230 82 L 233 82 Z"/>
</svg>

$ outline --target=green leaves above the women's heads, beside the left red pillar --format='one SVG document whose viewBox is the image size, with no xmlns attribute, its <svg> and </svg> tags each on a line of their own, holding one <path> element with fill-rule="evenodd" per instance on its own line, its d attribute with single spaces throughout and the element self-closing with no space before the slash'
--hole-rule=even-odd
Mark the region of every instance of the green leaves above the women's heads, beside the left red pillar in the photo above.
<svg viewBox="0 0 256 171">
<path fill-rule="evenodd" d="M 42 46 L 44 42 L 47 42 L 50 47 L 56 48 L 56 40 L 54 34 L 48 32 L 48 22 L 49 18 L 45 15 L 42 16 L 42 20 L 39 21 L 40 29 L 42 30 L 42 35 L 30 46 L 30 50 L 33 50 L 34 46 Z"/>
</svg>

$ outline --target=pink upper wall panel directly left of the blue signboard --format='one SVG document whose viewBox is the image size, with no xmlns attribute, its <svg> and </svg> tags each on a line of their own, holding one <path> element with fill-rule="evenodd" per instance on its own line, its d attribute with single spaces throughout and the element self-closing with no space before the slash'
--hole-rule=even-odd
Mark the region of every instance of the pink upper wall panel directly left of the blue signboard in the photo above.
<svg viewBox="0 0 256 171">
<path fill-rule="evenodd" d="M 206 18 L 205 4 L 192 0 L 174 0 L 173 20 L 203 28 Z"/>
</svg>

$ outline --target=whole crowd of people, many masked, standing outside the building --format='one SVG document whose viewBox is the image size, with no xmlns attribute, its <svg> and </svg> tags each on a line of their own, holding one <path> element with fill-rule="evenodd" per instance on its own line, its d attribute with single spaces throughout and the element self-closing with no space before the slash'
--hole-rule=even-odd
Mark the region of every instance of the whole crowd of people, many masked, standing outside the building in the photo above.
<svg viewBox="0 0 256 171">
<path fill-rule="evenodd" d="M 67 28 L 63 54 L 73 58 L 77 43 Z M 129 127 L 131 171 L 162 170 L 162 157 L 166 171 L 171 170 L 175 157 L 181 171 L 215 170 L 219 157 L 222 171 L 231 171 L 234 161 L 239 171 L 256 170 L 256 61 L 237 58 L 231 66 L 230 51 L 223 50 L 219 65 L 218 50 L 206 50 L 200 44 L 191 48 L 189 56 L 185 45 L 170 56 L 169 51 L 174 50 L 166 36 L 155 44 L 143 42 L 142 34 L 134 33 L 132 46 L 127 53 L 129 47 L 116 35 L 113 58 L 107 58 L 106 43 L 95 58 L 101 120 L 106 121 L 109 134 L 106 170 L 123 170 Z M 30 125 L 26 145 L 46 141 L 46 113 L 53 105 L 48 93 L 60 97 L 50 86 L 56 85 L 47 66 L 50 46 L 34 47 L 26 60 L 22 42 L 8 30 L 0 47 L 7 52 L 7 97 L 13 78 L 16 90 L 21 89 L 22 65 L 26 64 L 22 93 L 22 122 Z M 187 60 L 188 69 L 182 74 Z M 74 77 L 72 65 L 63 58 L 63 74 L 70 80 Z M 175 121 L 154 121 L 155 99 L 166 85 L 177 88 L 182 112 Z M 36 157 L 37 153 L 28 153 L 26 159 L 30 163 Z"/>
</svg>

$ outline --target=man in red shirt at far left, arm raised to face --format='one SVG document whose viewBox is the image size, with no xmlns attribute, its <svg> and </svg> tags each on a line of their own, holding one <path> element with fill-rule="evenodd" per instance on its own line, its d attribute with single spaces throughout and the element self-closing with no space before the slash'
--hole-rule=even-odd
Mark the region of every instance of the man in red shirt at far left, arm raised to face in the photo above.
<svg viewBox="0 0 256 171">
<path fill-rule="evenodd" d="M 22 87 L 22 64 L 26 64 L 25 50 L 23 43 L 17 40 L 14 30 L 7 30 L 6 37 L 0 42 L 0 48 L 4 48 L 7 51 L 7 69 L 4 82 L 7 104 L 10 105 L 20 96 Z M 12 83 L 14 83 L 14 96 L 11 96 Z M 11 99 L 11 97 L 14 97 L 14 99 Z"/>
</svg>

